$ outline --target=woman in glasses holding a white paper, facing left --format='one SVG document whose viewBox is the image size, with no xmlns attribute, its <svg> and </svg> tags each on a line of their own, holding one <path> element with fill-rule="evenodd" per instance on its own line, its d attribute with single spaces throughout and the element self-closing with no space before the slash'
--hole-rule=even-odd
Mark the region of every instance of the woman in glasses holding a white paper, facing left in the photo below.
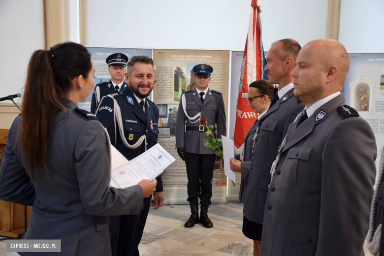
<svg viewBox="0 0 384 256">
<path fill-rule="evenodd" d="M 249 130 L 244 139 L 244 156 L 243 159 L 230 160 L 230 168 L 234 172 L 241 172 L 241 184 L 239 200 L 244 203 L 245 193 L 247 191 L 248 175 L 251 170 L 251 158 L 254 155 L 253 145 L 254 137 L 256 134 L 256 128 L 258 127 L 258 120 L 268 110 L 269 105 L 273 97 L 275 96 L 275 90 L 266 80 L 257 80 L 250 84 L 248 89 L 248 106 L 252 107 L 255 113 L 258 113 L 257 121 Z M 258 224 L 243 218 L 243 233 L 246 237 L 254 240 L 254 256 L 259 255 L 260 240 L 261 240 L 262 224 Z"/>
</svg>

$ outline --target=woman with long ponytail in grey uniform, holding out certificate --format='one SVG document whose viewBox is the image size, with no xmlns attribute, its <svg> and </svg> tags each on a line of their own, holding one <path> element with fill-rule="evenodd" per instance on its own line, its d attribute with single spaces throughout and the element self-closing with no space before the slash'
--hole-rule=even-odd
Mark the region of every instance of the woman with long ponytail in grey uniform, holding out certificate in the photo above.
<svg viewBox="0 0 384 256">
<path fill-rule="evenodd" d="M 107 216 L 138 214 L 156 189 L 156 180 L 109 188 L 109 137 L 94 115 L 77 108 L 94 74 L 82 45 L 35 51 L 1 163 L 0 199 L 33 206 L 23 239 L 61 239 L 54 255 L 111 255 Z"/>
</svg>

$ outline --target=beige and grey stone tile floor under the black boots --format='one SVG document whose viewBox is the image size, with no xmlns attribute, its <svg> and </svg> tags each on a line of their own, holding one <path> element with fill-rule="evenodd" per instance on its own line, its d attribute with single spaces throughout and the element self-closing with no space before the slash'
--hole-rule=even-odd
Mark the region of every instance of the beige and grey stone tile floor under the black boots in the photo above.
<svg viewBox="0 0 384 256">
<path fill-rule="evenodd" d="M 252 256 L 253 241 L 243 235 L 243 204 L 211 205 L 209 218 L 214 224 L 205 228 L 196 224 L 185 228 L 191 212 L 189 205 L 164 205 L 151 210 L 139 246 L 140 256 Z M 372 256 L 364 246 L 366 256 Z M 0 256 L 5 252 L 0 241 Z"/>
</svg>

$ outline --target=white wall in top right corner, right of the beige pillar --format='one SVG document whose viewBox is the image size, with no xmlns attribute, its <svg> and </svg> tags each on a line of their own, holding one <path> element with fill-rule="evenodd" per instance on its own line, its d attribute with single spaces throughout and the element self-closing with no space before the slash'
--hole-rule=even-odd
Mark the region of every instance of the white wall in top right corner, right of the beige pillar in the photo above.
<svg viewBox="0 0 384 256">
<path fill-rule="evenodd" d="M 384 1 L 341 0 L 339 41 L 351 52 L 384 52 Z"/>
</svg>

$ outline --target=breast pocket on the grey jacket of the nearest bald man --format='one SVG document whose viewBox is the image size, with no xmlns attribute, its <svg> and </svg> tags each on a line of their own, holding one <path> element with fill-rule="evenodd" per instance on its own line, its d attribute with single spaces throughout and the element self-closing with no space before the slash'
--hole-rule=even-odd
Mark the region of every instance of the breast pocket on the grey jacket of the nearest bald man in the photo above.
<svg viewBox="0 0 384 256">
<path fill-rule="evenodd" d="M 311 178 L 311 153 L 313 147 L 296 146 L 287 152 L 282 172 L 284 182 L 289 185 L 306 186 Z M 283 153 L 284 156 L 285 153 Z"/>
</svg>

